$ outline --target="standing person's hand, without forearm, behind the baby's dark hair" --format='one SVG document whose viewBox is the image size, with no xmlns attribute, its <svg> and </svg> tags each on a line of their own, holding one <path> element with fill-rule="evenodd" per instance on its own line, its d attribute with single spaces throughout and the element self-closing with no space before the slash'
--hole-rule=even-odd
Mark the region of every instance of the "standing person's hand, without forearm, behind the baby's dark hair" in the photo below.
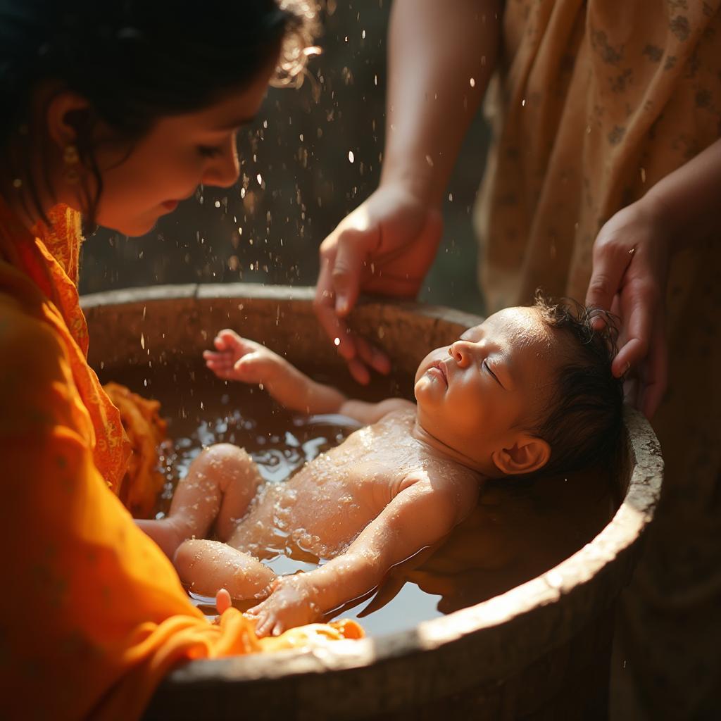
<svg viewBox="0 0 721 721">
<path fill-rule="evenodd" d="M 616 377 L 632 371 L 627 397 L 648 418 L 658 409 L 668 375 L 665 294 L 672 234 L 663 205 L 648 197 L 616 213 L 593 244 L 585 299 L 621 319 L 611 369 Z"/>
</svg>

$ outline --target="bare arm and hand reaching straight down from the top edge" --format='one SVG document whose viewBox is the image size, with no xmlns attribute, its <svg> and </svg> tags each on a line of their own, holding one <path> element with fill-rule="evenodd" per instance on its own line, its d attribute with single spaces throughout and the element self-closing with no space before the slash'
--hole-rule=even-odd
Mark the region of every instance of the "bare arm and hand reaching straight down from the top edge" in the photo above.
<svg viewBox="0 0 721 721">
<path fill-rule="evenodd" d="M 322 243 L 316 313 L 361 383 L 385 355 L 348 332 L 358 293 L 412 297 L 441 240 L 441 201 L 495 67 L 497 0 L 397 0 L 379 189 Z"/>
</svg>

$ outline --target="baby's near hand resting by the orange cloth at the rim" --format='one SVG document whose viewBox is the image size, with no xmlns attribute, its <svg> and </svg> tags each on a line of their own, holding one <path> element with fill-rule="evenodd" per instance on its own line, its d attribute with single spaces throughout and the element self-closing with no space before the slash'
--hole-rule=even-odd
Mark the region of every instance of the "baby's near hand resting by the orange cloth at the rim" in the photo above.
<svg viewBox="0 0 721 721">
<path fill-rule="evenodd" d="M 321 611 L 315 603 L 316 589 L 303 574 L 280 576 L 270 584 L 270 596 L 246 613 L 256 619 L 255 633 L 279 636 L 296 626 L 317 621 Z"/>
</svg>

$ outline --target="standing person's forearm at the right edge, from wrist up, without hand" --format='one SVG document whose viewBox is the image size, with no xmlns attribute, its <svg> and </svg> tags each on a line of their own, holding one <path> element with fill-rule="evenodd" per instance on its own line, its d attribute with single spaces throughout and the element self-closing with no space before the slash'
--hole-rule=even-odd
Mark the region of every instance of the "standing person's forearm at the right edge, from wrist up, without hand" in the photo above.
<svg viewBox="0 0 721 721">
<path fill-rule="evenodd" d="M 673 236 L 672 249 L 721 228 L 721 140 L 663 180 L 640 200 Z"/>
</svg>

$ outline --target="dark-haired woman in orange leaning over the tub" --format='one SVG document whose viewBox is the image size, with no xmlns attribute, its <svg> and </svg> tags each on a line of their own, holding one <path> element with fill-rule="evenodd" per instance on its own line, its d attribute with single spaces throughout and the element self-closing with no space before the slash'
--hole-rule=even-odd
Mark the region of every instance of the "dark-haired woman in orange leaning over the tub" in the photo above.
<svg viewBox="0 0 721 721">
<path fill-rule="evenodd" d="M 2 602 L 5 718 L 131 719 L 175 663 L 263 647 L 235 609 L 205 621 L 113 492 L 130 451 L 86 361 L 79 212 L 137 235 L 235 182 L 235 133 L 301 70 L 312 19 L 288 0 L 0 3 L 0 528 L 24 593 L 22 620 Z"/>
</svg>

